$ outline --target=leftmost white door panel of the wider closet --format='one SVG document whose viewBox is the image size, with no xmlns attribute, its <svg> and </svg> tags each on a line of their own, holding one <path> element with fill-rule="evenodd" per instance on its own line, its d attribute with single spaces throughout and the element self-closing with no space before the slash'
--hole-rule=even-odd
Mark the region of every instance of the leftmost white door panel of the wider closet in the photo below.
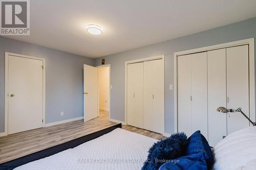
<svg viewBox="0 0 256 170">
<path fill-rule="evenodd" d="M 178 82 L 178 131 L 191 135 L 191 58 L 190 55 L 177 58 Z"/>
</svg>

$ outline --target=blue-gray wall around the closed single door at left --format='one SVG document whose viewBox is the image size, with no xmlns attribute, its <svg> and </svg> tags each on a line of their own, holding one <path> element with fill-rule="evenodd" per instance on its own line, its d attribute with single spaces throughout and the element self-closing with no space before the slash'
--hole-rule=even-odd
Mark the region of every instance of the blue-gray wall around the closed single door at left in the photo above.
<svg viewBox="0 0 256 170">
<path fill-rule="evenodd" d="M 46 59 L 46 123 L 83 116 L 83 64 L 94 65 L 93 59 L 0 37 L 0 133 L 5 127 L 5 52 Z"/>
</svg>

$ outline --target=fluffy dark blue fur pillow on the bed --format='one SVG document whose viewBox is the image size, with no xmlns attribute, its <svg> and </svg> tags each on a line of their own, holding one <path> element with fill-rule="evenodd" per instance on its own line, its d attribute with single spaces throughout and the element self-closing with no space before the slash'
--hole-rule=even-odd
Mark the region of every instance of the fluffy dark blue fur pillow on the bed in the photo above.
<svg viewBox="0 0 256 170">
<path fill-rule="evenodd" d="M 187 136 L 185 133 L 176 133 L 167 139 L 154 143 L 148 151 L 147 161 L 142 170 L 158 169 L 163 163 L 182 156 L 185 152 Z"/>
</svg>

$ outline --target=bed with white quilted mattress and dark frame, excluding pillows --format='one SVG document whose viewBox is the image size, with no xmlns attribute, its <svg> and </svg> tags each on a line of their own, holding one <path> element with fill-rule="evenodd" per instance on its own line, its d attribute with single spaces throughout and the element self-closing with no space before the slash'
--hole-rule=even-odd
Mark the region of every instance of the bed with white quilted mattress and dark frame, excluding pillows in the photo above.
<svg viewBox="0 0 256 170">
<path fill-rule="evenodd" d="M 121 125 L 0 165 L 0 169 L 141 169 L 157 142 Z"/>
</svg>

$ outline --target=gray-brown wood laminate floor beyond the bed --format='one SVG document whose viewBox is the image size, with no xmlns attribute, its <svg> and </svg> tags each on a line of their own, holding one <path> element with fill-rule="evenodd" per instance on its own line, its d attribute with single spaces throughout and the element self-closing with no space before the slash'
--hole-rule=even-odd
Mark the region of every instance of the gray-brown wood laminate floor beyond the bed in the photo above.
<svg viewBox="0 0 256 170">
<path fill-rule="evenodd" d="M 0 137 L 0 163 L 7 162 L 72 139 L 116 125 L 109 121 L 109 113 L 100 111 L 99 117 L 84 123 L 83 120 L 34 129 Z M 123 129 L 155 139 L 164 139 L 161 134 L 123 125 Z"/>
</svg>

